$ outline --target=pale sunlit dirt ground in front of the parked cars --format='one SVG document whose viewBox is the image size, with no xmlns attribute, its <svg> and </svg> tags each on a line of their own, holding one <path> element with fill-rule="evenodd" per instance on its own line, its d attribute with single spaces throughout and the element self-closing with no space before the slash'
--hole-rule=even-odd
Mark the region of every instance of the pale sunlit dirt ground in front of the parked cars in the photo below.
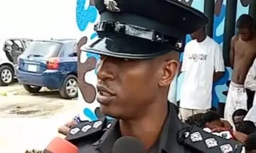
<svg viewBox="0 0 256 153">
<path fill-rule="evenodd" d="M 77 100 L 61 99 L 58 92 L 30 94 L 18 83 L 0 87 L 0 153 L 44 149 L 77 112 Z"/>
</svg>

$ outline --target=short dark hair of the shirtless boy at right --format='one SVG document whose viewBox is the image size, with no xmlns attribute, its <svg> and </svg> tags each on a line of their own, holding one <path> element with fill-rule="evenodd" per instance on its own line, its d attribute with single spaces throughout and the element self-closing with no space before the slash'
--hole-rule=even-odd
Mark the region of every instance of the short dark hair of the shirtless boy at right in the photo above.
<svg viewBox="0 0 256 153">
<path fill-rule="evenodd" d="M 248 14 L 242 14 L 237 22 L 236 22 L 236 28 L 246 28 L 246 29 L 252 29 L 254 28 L 254 21 L 253 18 Z"/>
</svg>

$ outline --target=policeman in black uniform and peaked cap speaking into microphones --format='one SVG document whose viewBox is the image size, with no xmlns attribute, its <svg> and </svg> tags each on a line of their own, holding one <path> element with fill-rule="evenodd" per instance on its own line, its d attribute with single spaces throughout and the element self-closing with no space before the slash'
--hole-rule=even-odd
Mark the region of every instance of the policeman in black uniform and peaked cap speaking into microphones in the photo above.
<svg viewBox="0 0 256 153">
<path fill-rule="evenodd" d="M 188 127 L 167 101 L 178 69 L 175 44 L 208 23 L 176 0 L 95 0 L 99 39 L 86 52 L 100 54 L 100 119 L 71 127 L 66 139 L 80 153 L 111 153 L 122 136 L 139 139 L 149 153 L 238 153 L 235 141 Z M 200 93 L 198 93 L 200 94 Z"/>
</svg>

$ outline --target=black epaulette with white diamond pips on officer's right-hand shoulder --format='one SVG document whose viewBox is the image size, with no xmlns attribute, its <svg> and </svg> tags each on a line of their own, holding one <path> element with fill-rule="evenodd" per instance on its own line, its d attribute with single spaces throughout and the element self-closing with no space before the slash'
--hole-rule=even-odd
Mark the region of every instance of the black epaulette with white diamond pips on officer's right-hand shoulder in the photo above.
<svg viewBox="0 0 256 153">
<path fill-rule="evenodd" d="M 178 141 L 203 153 L 241 153 L 243 145 L 203 131 L 198 127 L 185 127 L 178 132 Z"/>
</svg>

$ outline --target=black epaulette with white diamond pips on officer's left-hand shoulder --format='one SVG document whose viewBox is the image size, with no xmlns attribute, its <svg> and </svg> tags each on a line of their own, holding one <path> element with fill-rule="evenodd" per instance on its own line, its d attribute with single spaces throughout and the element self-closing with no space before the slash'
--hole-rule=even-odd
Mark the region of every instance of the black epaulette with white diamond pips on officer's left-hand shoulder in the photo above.
<svg viewBox="0 0 256 153">
<path fill-rule="evenodd" d="M 103 129 L 107 126 L 107 122 L 107 119 L 103 118 L 96 121 L 87 121 L 74 125 L 70 128 L 66 140 L 78 139 L 99 131 L 103 131 Z"/>
</svg>

